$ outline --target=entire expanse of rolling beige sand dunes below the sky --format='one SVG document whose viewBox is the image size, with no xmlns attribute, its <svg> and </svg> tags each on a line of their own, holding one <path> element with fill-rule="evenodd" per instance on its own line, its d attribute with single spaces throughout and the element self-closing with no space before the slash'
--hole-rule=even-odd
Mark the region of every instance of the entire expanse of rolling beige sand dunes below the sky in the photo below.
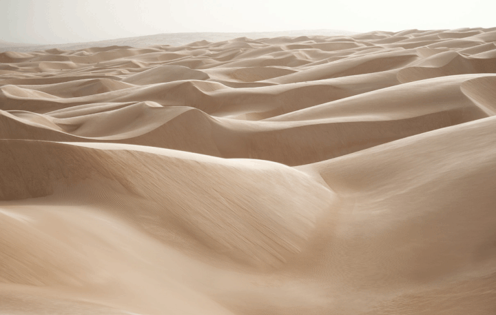
<svg viewBox="0 0 496 315">
<path fill-rule="evenodd" d="M 496 28 L 0 53 L 0 314 L 496 314 Z"/>
</svg>

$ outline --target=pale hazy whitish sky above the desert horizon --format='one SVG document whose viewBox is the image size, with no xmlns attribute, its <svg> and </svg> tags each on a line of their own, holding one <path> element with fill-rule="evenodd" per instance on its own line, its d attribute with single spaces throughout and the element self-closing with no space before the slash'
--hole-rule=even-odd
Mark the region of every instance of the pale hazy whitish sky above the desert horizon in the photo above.
<svg viewBox="0 0 496 315">
<path fill-rule="evenodd" d="M 163 32 L 399 31 L 496 26 L 496 0 L 0 0 L 0 40 L 68 43 Z"/>
</svg>

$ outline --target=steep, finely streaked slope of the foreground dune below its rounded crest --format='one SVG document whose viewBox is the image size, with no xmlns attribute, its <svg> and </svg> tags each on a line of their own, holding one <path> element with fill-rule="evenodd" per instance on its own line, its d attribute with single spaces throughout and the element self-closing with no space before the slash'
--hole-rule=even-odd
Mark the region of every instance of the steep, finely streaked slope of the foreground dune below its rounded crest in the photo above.
<svg viewBox="0 0 496 315">
<path fill-rule="evenodd" d="M 332 208 L 329 190 L 284 165 L 130 145 L 82 145 L 3 141 L 1 199 L 64 199 L 63 193 L 69 193 L 64 190 L 73 185 L 90 191 L 85 182 L 108 181 L 108 187 L 119 187 L 117 194 L 148 201 L 136 207 L 137 213 L 126 209 L 134 223 L 143 213 L 154 215 L 249 265 L 284 262 L 286 253 L 299 252 L 318 217 Z"/>
</svg>

